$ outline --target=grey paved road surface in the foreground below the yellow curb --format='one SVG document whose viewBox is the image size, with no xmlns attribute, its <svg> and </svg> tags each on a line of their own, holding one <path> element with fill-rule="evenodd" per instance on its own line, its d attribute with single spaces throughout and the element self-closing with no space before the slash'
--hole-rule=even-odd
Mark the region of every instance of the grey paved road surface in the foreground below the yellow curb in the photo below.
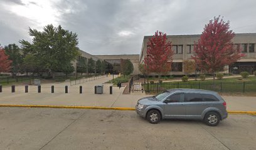
<svg viewBox="0 0 256 150">
<path fill-rule="evenodd" d="M 149 124 L 134 111 L 0 108 L 0 149 L 256 149 L 256 116 Z"/>
</svg>

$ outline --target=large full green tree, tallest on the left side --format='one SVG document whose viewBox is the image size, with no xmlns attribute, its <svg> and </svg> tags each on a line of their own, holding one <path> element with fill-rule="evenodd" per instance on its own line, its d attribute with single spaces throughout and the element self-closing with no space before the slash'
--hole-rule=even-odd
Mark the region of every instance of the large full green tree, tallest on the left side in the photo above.
<svg viewBox="0 0 256 150">
<path fill-rule="evenodd" d="M 24 54 L 33 54 L 40 59 L 52 78 L 55 78 L 56 71 L 69 68 L 69 64 L 79 55 L 77 34 L 61 26 L 50 24 L 43 27 L 43 31 L 29 27 L 29 35 L 33 37 L 32 43 L 24 39 L 19 41 Z"/>
</svg>

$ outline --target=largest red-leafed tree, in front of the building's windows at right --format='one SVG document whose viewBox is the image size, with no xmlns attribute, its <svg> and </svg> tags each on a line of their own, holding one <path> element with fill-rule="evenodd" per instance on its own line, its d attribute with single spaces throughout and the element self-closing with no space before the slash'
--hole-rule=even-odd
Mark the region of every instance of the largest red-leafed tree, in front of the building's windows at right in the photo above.
<svg viewBox="0 0 256 150">
<path fill-rule="evenodd" d="M 202 71 L 213 74 L 223 71 L 224 66 L 235 63 L 244 56 L 240 46 L 234 46 L 232 39 L 235 33 L 230 30 L 230 22 L 214 17 L 205 25 L 198 42 L 195 42 L 195 54 L 191 56 Z"/>
</svg>

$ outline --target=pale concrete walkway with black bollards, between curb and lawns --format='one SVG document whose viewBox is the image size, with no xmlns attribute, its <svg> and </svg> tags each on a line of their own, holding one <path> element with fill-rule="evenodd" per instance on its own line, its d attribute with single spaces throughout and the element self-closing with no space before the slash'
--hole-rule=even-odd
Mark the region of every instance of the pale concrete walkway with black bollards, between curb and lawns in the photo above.
<svg viewBox="0 0 256 150">
<path fill-rule="evenodd" d="M 29 93 L 24 93 L 24 86 L 17 86 L 16 93 L 11 93 L 11 87 L 4 87 L 3 93 L 0 93 L 0 104 L 134 108 L 138 99 L 150 96 L 145 93 L 122 94 L 124 87 L 120 89 L 113 87 L 113 94 L 109 94 L 109 87 L 112 84 L 104 84 L 103 94 L 94 94 L 95 85 L 103 84 L 110 79 L 112 76 L 75 86 L 70 86 L 70 82 L 42 84 L 41 93 L 37 93 L 37 86 L 29 86 Z M 51 93 L 52 85 L 55 86 L 55 93 Z M 67 94 L 65 94 L 65 86 L 68 86 Z M 82 94 L 79 94 L 79 86 L 83 86 Z M 227 101 L 228 111 L 256 111 L 256 97 L 223 96 L 223 98 Z"/>
</svg>

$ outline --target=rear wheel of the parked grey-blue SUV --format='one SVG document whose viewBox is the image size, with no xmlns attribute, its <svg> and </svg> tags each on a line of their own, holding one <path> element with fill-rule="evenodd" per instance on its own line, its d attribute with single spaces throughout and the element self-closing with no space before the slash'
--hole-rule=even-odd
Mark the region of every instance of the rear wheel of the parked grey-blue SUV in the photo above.
<svg viewBox="0 0 256 150">
<path fill-rule="evenodd" d="M 211 111 L 205 114 L 204 121 L 208 126 L 217 126 L 220 123 L 220 115 Z"/>
</svg>

